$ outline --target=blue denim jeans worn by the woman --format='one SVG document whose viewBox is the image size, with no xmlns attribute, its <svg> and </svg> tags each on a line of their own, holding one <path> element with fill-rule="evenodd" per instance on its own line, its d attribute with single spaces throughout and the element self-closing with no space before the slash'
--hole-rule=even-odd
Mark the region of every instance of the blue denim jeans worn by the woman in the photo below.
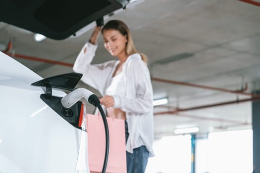
<svg viewBox="0 0 260 173">
<path fill-rule="evenodd" d="M 129 136 L 128 126 L 125 121 L 125 141 Z M 127 173 L 145 173 L 149 158 L 149 151 L 142 145 L 133 150 L 133 153 L 126 152 Z"/>
</svg>

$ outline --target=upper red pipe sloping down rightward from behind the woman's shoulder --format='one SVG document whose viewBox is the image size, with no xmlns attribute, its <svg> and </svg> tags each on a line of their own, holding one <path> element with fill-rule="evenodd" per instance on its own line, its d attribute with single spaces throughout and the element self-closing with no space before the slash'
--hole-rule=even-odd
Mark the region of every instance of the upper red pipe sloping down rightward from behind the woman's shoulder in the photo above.
<svg viewBox="0 0 260 173">
<path fill-rule="evenodd" d="M 157 82 L 169 83 L 169 84 L 182 85 L 182 86 L 187 86 L 187 87 L 199 87 L 199 88 L 217 90 L 217 91 L 222 91 L 222 92 L 229 92 L 229 93 L 235 93 L 235 94 L 241 94 L 241 95 L 255 96 L 252 93 L 244 93 L 243 92 L 248 88 L 247 84 L 245 85 L 244 89 L 238 91 L 238 90 L 229 90 L 229 89 L 224 89 L 224 88 L 219 88 L 219 87 L 208 87 L 208 86 L 203 86 L 203 85 L 198 85 L 198 84 L 190 84 L 190 83 L 184 83 L 184 82 L 172 81 L 172 80 L 166 80 L 166 79 L 159 79 L 159 78 L 151 78 L 151 80 L 157 81 Z"/>
</svg>

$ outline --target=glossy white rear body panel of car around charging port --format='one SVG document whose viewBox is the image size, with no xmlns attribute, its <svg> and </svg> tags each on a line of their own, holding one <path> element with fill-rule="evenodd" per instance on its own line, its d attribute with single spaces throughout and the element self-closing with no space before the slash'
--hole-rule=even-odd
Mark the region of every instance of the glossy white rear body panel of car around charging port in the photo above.
<svg viewBox="0 0 260 173">
<path fill-rule="evenodd" d="M 0 52 L 0 173 L 88 172 L 86 131 L 73 127 L 41 98 L 40 76 Z M 65 92 L 52 88 L 52 95 Z M 85 150 L 86 154 L 86 150 Z"/>
</svg>

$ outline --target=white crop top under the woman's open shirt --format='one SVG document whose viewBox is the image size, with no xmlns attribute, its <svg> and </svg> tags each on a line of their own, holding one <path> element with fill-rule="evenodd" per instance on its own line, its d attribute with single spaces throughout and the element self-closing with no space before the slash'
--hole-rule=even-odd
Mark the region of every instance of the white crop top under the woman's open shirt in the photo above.
<svg viewBox="0 0 260 173">
<path fill-rule="evenodd" d="M 109 83 L 110 84 L 105 89 L 106 95 L 120 95 L 120 96 L 126 95 L 126 87 L 124 85 L 122 72 L 120 72 L 119 74 L 111 78 Z"/>
</svg>

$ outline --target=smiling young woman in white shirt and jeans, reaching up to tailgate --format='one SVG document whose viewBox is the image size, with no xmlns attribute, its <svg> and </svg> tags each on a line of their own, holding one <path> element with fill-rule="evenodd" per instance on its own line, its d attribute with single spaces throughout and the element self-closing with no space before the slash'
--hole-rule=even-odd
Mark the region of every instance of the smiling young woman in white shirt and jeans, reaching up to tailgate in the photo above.
<svg viewBox="0 0 260 173">
<path fill-rule="evenodd" d="M 118 60 L 90 64 L 103 34 L 104 47 Z M 153 156 L 153 88 L 145 55 L 138 53 L 126 24 L 108 21 L 96 27 L 80 51 L 73 70 L 82 81 L 100 91 L 111 117 L 125 120 L 127 173 L 144 173 Z"/>
</svg>

